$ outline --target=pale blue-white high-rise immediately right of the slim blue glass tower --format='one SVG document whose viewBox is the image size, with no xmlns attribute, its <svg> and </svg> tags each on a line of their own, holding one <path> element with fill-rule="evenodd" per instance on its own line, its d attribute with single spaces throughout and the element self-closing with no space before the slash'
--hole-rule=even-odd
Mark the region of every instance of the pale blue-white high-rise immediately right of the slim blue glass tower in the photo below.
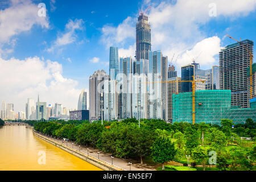
<svg viewBox="0 0 256 182">
<path fill-rule="evenodd" d="M 131 118 L 131 101 L 132 101 L 132 77 L 133 77 L 133 60 L 131 57 L 120 57 L 120 82 L 122 97 L 122 115 L 121 118 Z"/>
</svg>

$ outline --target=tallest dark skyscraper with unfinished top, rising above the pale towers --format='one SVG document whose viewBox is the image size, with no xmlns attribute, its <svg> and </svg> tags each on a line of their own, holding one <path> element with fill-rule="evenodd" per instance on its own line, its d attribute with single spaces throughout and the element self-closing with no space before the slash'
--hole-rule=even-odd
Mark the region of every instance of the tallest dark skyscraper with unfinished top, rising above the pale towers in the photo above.
<svg viewBox="0 0 256 182">
<path fill-rule="evenodd" d="M 136 23 L 136 60 L 148 60 L 151 51 L 151 29 L 148 16 L 140 14 Z"/>
</svg>

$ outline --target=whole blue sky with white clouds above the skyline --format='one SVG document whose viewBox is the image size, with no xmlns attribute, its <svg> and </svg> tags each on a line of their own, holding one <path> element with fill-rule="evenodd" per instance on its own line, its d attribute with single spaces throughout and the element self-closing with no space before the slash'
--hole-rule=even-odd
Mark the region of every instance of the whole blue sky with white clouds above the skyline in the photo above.
<svg viewBox="0 0 256 182">
<path fill-rule="evenodd" d="M 218 65 L 221 48 L 236 43 L 226 34 L 256 41 L 256 0 L 1 0 L 0 102 L 18 113 L 39 94 L 47 105 L 76 109 L 90 75 L 109 72 L 110 46 L 135 56 L 135 26 L 147 7 L 151 49 L 162 50 L 178 76 L 192 59 L 201 69 Z"/>
</svg>

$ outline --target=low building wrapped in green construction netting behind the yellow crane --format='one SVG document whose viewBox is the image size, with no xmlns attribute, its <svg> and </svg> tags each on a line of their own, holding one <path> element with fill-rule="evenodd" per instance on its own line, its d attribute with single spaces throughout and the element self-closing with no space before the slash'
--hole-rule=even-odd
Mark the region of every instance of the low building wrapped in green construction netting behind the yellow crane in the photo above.
<svg viewBox="0 0 256 182">
<path fill-rule="evenodd" d="M 247 118 L 256 121 L 256 98 L 250 100 L 251 108 L 231 106 L 231 90 L 196 90 L 195 123 L 219 125 L 221 119 L 232 119 L 234 123 L 245 123 Z M 192 93 L 172 95 L 172 122 L 192 123 Z"/>
</svg>

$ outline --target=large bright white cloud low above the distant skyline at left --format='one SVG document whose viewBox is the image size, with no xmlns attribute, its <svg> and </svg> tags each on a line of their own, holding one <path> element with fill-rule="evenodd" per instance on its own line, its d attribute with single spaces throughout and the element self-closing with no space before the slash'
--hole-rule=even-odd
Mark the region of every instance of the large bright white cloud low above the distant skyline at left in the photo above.
<svg viewBox="0 0 256 182">
<path fill-rule="evenodd" d="M 25 60 L 0 58 L 0 101 L 14 103 L 15 111 L 25 109 L 28 97 L 47 104 L 58 102 L 76 108 L 80 90 L 78 82 L 62 75 L 62 65 L 56 61 L 42 61 L 39 57 Z"/>
</svg>

